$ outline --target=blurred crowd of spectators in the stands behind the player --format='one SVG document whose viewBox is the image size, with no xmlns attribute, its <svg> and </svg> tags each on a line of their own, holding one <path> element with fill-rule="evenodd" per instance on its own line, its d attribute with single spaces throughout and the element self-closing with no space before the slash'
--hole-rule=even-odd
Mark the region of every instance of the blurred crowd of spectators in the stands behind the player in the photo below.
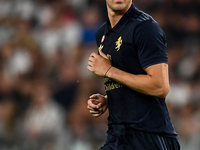
<svg viewBox="0 0 200 150">
<path fill-rule="evenodd" d="M 167 104 L 182 150 L 200 149 L 200 1 L 134 0 L 168 41 Z M 0 150 L 96 150 L 107 116 L 92 117 L 103 80 L 87 70 L 105 0 L 0 0 Z"/>
</svg>

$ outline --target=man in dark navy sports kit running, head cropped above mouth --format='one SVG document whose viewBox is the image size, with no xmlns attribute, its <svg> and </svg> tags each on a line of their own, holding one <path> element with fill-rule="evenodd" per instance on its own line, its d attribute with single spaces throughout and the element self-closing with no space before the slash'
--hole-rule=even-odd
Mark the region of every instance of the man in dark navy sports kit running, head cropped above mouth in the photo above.
<svg viewBox="0 0 200 150">
<path fill-rule="evenodd" d="M 93 94 L 90 113 L 109 109 L 101 150 L 179 150 L 165 97 L 169 92 L 166 38 L 132 0 L 106 0 L 108 19 L 97 31 L 99 54 L 88 69 L 104 77 L 106 96 Z"/>
</svg>

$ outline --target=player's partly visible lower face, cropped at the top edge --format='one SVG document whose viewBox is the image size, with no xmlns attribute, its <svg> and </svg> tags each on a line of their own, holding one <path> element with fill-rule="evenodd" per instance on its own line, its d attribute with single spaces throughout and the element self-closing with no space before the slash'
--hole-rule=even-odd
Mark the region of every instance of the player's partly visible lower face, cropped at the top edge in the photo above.
<svg viewBox="0 0 200 150">
<path fill-rule="evenodd" d="M 132 0 L 106 0 L 108 11 L 125 13 L 132 4 Z"/>
</svg>

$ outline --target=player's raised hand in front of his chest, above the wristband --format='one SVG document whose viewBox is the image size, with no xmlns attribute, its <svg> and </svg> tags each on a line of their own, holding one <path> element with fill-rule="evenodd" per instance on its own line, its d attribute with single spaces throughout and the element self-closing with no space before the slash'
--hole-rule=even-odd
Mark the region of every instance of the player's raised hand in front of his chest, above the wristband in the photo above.
<svg viewBox="0 0 200 150">
<path fill-rule="evenodd" d="M 109 58 L 102 52 L 92 53 L 88 61 L 88 70 L 99 76 L 104 76 L 107 70 L 112 66 Z"/>
</svg>

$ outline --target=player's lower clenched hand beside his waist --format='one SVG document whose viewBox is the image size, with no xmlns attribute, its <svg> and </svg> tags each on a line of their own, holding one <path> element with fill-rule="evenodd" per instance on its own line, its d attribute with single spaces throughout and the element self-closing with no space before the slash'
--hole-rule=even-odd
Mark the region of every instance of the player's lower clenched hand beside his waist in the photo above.
<svg viewBox="0 0 200 150">
<path fill-rule="evenodd" d="M 87 108 L 94 117 L 101 116 L 108 108 L 107 96 L 93 94 L 87 101 Z"/>
</svg>

